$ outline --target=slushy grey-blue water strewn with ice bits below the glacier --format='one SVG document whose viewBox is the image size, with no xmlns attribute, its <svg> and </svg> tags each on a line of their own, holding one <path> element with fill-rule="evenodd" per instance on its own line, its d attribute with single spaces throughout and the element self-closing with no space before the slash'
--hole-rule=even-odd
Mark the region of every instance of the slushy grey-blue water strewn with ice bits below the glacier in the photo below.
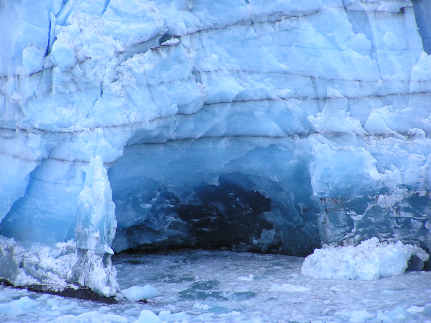
<svg viewBox="0 0 431 323">
<path fill-rule="evenodd" d="M 183 323 L 431 323 L 431 272 L 316 280 L 301 275 L 300 257 L 206 250 L 121 254 L 114 261 L 122 289 L 150 284 L 159 295 L 147 304 L 100 304 L 0 287 L 0 322 L 128 323 L 150 310 L 171 311 L 162 320 Z"/>
</svg>

